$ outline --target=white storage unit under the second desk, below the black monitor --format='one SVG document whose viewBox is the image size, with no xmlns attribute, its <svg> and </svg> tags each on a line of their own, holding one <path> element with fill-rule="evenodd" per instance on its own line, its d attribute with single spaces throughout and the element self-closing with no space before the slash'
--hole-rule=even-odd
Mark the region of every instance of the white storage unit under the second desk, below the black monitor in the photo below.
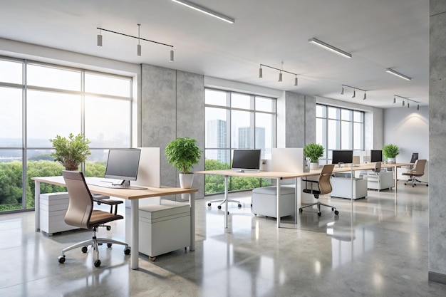
<svg viewBox="0 0 446 297">
<path fill-rule="evenodd" d="M 252 190 L 252 213 L 277 217 L 277 188 L 261 187 Z M 280 187 L 280 217 L 294 215 L 294 187 Z"/>
</svg>

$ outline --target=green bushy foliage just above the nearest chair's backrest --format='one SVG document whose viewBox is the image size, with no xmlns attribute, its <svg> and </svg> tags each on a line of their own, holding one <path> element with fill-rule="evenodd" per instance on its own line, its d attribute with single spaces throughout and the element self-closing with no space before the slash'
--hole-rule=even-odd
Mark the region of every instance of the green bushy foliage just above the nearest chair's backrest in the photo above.
<svg viewBox="0 0 446 297">
<path fill-rule="evenodd" d="M 50 139 L 56 152 L 51 152 L 54 161 L 60 162 L 66 170 L 78 170 L 79 165 L 87 160 L 87 156 L 91 155 L 90 140 L 83 137 L 82 134 L 73 135 L 70 133 L 68 138 L 56 135 Z"/>
</svg>

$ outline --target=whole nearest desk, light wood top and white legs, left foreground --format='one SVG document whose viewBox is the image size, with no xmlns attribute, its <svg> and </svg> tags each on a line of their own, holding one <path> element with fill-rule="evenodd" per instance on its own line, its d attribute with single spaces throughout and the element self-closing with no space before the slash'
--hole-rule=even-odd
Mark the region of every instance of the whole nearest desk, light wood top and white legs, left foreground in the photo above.
<svg viewBox="0 0 446 297">
<path fill-rule="evenodd" d="M 39 214 L 39 199 L 40 199 L 40 183 L 56 184 L 58 186 L 65 186 L 63 177 L 33 177 L 36 182 L 35 189 L 35 211 L 36 211 L 36 231 L 40 230 L 40 214 Z M 161 187 L 153 188 L 147 187 L 147 189 L 110 189 L 106 187 L 98 187 L 89 185 L 88 188 L 95 194 L 103 194 L 107 196 L 113 196 L 130 200 L 131 206 L 131 239 L 126 238 L 125 241 L 129 243 L 132 248 L 130 256 L 130 268 L 138 269 L 138 257 L 139 257 L 139 199 L 170 196 L 175 194 L 190 194 L 190 250 L 195 250 L 195 192 L 197 189 L 181 189 L 175 187 Z M 127 224 L 126 219 L 126 224 Z"/>
</svg>

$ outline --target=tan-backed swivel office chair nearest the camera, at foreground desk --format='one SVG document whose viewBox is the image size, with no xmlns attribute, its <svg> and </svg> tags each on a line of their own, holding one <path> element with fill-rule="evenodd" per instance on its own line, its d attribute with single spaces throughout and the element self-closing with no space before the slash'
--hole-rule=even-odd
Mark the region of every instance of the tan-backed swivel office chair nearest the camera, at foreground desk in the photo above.
<svg viewBox="0 0 446 297">
<path fill-rule="evenodd" d="M 98 245 L 107 244 L 111 247 L 112 244 L 120 244 L 125 246 L 124 254 L 130 254 L 130 248 L 125 242 L 116 241 L 113 239 L 97 238 L 96 231 L 99 226 L 105 226 L 104 224 L 123 219 L 123 216 L 119 214 L 104 212 L 102 210 L 93 209 L 93 196 L 88 189 L 85 178 L 82 172 L 77 171 L 62 171 L 63 179 L 65 180 L 66 188 L 68 189 L 68 209 L 65 214 L 65 222 L 71 226 L 77 226 L 82 229 L 91 229 L 93 231 L 92 239 L 81 241 L 77 244 L 62 249 L 62 255 L 58 257 L 59 263 L 65 263 L 66 251 L 71 251 L 82 246 L 82 252 L 88 251 L 88 246 L 93 246 L 95 251 L 95 267 L 100 266 Z M 117 207 L 117 205 L 115 205 Z M 110 229 L 110 226 L 107 226 Z"/>
</svg>

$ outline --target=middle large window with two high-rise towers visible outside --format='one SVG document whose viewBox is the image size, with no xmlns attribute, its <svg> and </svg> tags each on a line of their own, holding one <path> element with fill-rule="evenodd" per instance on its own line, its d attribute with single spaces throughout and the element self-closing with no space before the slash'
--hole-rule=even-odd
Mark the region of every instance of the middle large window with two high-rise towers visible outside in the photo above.
<svg viewBox="0 0 446 297">
<path fill-rule="evenodd" d="M 231 167 L 234 149 L 261 149 L 271 159 L 276 147 L 276 100 L 226 90 L 205 90 L 205 170 Z M 205 177 L 205 194 L 224 191 L 224 177 Z M 268 179 L 231 177 L 229 190 L 271 184 Z"/>
</svg>

